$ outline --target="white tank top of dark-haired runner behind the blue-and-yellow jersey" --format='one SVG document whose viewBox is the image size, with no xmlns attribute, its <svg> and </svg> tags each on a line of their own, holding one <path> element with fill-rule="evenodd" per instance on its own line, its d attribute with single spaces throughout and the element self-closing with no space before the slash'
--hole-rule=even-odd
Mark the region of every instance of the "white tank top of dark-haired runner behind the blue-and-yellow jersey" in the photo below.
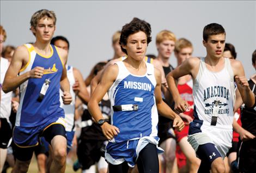
<svg viewBox="0 0 256 173">
<path fill-rule="evenodd" d="M 66 76 L 68 76 L 69 84 L 70 84 L 70 94 L 72 96 L 72 102 L 69 105 L 63 104 L 62 90 L 59 91 L 60 94 L 60 107 L 64 109 L 65 112 L 65 120 L 66 120 L 66 131 L 71 132 L 74 127 L 74 120 L 75 120 L 75 101 L 76 101 L 76 94 L 72 89 L 72 86 L 75 84 L 75 77 L 73 72 L 73 67 L 66 65 Z"/>
</svg>

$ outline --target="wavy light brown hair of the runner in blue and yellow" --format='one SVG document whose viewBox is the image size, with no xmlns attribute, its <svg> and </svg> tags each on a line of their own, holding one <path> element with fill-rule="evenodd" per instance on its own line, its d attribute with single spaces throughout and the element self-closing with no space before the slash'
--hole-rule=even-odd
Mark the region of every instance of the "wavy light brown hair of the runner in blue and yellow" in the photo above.
<svg viewBox="0 0 256 173">
<path fill-rule="evenodd" d="M 45 16 L 51 18 L 53 20 L 53 24 L 56 25 L 57 18 L 54 11 L 42 9 L 42 10 L 36 11 L 32 15 L 31 21 L 30 21 L 31 27 L 35 28 L 36 24 L 38 24 L 38 21 Z"/>
</svg>

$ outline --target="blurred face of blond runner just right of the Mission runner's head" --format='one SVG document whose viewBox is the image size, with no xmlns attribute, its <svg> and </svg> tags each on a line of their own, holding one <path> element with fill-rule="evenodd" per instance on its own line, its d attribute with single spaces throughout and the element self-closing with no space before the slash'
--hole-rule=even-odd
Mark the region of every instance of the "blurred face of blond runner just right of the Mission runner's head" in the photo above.
<svg viewBox="0 0 256 173">
<path fill-rule="evenodd" d="M 157 44 L 157 50 L 163 58 L 170 58 L 174 50 L 175 42 L 173 40 L 163 40 L 160 44 Z"/>
</svg>

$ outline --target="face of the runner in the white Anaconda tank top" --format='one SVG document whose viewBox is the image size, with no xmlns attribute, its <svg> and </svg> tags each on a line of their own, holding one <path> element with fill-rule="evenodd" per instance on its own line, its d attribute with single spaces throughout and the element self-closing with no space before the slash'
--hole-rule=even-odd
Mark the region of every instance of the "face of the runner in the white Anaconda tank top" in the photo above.
<svg viewBox="0 0 256 173">
<path fill-rule="evenodd" d="M 203 40 L 203 44 L 210 57 L 221 58 L 225 47 L 225 34 L 210 35 L 207 42 Z"/>
</svg>

